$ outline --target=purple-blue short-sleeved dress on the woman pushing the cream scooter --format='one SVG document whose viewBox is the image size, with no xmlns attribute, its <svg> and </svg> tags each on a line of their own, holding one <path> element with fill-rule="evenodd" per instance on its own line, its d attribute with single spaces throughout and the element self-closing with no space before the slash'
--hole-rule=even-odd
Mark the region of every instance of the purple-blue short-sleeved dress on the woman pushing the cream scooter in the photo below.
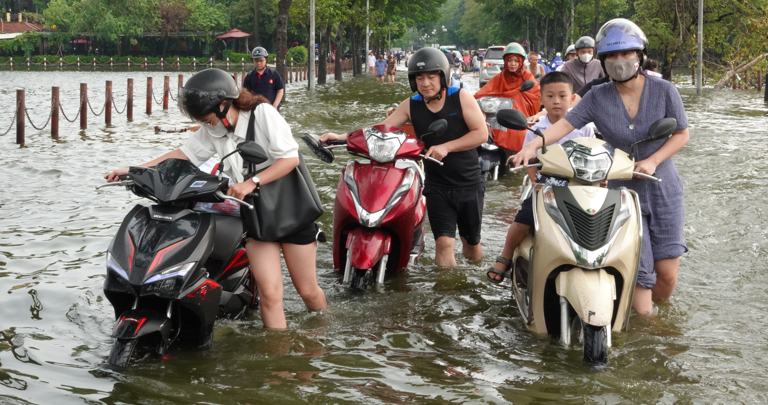
<svg viewBox="0 0 768 405">
<path fill-rule="evenodd" d="M 607 143 L 628 153 L 632 143 L 645 137 L 651 124 L 665 117 L 677 119 L 676 131 L 688 127 L 683 100 L 674 84 L 646 77 L 634 120 L 627 114 L 613 81 L 592 87 L 579 104 L 565 115 L 565 120 L 576 128 L 594 122 Z M 635 160 L 647 159 L 665 142 L 666 139 L 638 143 Z M 663 181 L 656 183 L 633 178 L 608 182 L 611 189 L 625 186 L 636 191 L 640 198 L 643 245 L 637 285 L 644 288 L 656 285 L 654 261 L 677 258 L 688 251 L 688 246 L 683 242 L 683 183 L 677 174 L 677 167 L 671 159 L 665 160 L 657 166 L 654 176 Z"/>
</svg>

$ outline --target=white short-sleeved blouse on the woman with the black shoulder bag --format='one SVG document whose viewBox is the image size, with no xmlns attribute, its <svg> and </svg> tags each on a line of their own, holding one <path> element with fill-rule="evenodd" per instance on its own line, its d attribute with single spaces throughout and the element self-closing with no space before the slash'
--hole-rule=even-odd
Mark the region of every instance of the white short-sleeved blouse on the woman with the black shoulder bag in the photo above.
<svg viewBox="0 0 768 405">
<path fill-rule="evenodd" d="M 299 157 L 299 144 L 293 139 L 290 126 L 280 113 L 268 103 L 259 104 L 254 112 L 256 120 L 253 140 L 264 148 L 269 159 L 257 165 L 261 170 L 270 166 L 278 159 Z M 223 123 L 216 127 L 202 126 L 192 133 L 187 141 L 179 149 L 190 162 L 200 166 L 211 156 L 224 156 L 237 148 L 237 143 L 243 142 L 246 137 L 250 120 L 250 110 L 240 110 L 240 117 L 234 132 L 227 131 Z M 224 161 L 224 173 L 230 176 L 235 183 L 243 181 L 243 158 L 234 153 Z"/>
</svg>

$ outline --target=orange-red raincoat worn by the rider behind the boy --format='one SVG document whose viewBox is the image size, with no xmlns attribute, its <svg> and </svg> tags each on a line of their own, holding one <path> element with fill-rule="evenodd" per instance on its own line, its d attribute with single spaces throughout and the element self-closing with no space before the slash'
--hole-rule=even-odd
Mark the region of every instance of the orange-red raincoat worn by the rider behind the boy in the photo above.
<svg viewBox="0 0 768 405">
<path fill-rule="evenodd" d="M 520 91 L 520 86 L 524 81 L 534 81 L 534 87 L 529 91 Z M 512 102 L 512 108 L 520 110 L 525 117 L 531 117 L 531 115 L 537 114 L 540 110 L 541 104 L 538 102 L 538 95 L 541 94 L 541 90 L 538 87 L 538 82 L 534 80 L 533 74 L 521 70 L 519 74 L 508 73 L 505 69 L 499 74 L 496 74 L 485 86 L 481 87 L 477 93 L 475 93 L 475 100 L 481 97 L 505 97 L 514 100 Z M 522 150 L 523 140 L 525 140 L 525 133 L 528 130 L 491 130 L 493 133 L 493 141 L 506 150 Z"/>
</svg>

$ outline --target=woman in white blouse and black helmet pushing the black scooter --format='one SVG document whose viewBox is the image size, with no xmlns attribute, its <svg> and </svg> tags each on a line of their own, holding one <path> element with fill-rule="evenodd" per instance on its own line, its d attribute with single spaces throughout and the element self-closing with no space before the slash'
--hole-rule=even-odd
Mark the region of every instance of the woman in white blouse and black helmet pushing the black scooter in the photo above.
<svg viewBox="0 0 768 405">
<path fill-rule="evenodd" d="M 184 91 L 190 95 L 185 96 Z M 233 153 L 224 160 L 223 171 L 235 183 L 227 190 L 227 195 L 243 199 L 258 186 L 280 179 L 299 165 L 299 145 L 293 140 L 286 120 L 266 98 L 250 91 L 237 91 L 237 84 L 227 72 L 220 69 L 200 71 L 190 77 L 179 93 L 180 110 L 200 123 L 200 130 L 190 135 L 180 148 L 139 166 L 154 166 L 169 158 L 189 160 L 200 166 L 211 156 L 232 152 L 237 143 L 246 138 L 250 110 L 254 106 L 254 140 L 263 147 L 269 160 L 257 165 L 257 171 L 263 169 L 258 176 L 247 180 L 243 180 L 243 158 L 239 154 Z M 122 168 L 104 177 L 111 183 L 127 173 L 128 169 Z M 274 242 L 246 239 L 245 249 L 257 282 L 265 328 L 283 329 L 287 326 L 283 312 L 281 250 L 293 285 L 306 307 L 310 311 L 326 308 L 326 297 L 317 285 L 315 271 L 318 235 L 319 230 L 312 223 L 306 229 Z"/>
</svg>

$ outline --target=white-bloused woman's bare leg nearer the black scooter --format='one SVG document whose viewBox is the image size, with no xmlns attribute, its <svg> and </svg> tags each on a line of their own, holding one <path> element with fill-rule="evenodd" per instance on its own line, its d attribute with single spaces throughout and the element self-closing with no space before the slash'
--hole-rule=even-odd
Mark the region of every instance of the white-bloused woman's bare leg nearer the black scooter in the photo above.
<svg viewBox="0 0 768 405">
<path fill-rule="evenodd" d="M 250 240 L 245 245 L 250 270 L 259 288 L 264 328 L 287 328 L 283 312 L 283 275 L 280 272 L 280 244 Z"/>
</svg>

